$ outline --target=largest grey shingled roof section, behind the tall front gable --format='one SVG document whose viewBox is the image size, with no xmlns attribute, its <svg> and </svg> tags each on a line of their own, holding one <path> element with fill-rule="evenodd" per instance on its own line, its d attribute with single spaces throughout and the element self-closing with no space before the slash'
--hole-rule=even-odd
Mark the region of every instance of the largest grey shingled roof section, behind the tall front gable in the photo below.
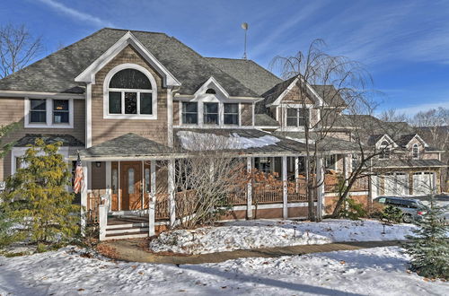
<svg viewBox="0 0 449 296">
<path fill-rule="evenodd" d="M 259 97 L 256 91 L 220 70 L 207 58 L 163 33 L 130 31 L 181 83 L 181 94 L 193 94 L 214 76 L 230 96 Z M 128 30 L 104 28 L 0 80 L 0 90 L 83 93 L 75 77 L 117 43 Z"/>
</svg>

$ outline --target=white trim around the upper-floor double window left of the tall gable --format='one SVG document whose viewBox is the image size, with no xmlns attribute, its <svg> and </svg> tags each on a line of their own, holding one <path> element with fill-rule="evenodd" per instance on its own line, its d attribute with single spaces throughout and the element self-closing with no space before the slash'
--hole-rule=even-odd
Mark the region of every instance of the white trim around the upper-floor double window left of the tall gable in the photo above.
<svg viewBox="0 0 449 296">
<path fill-rule="evenodd" d="M 31 123 L 30 112 L 31 103 L 30 100 L 35 98 L 25 98 L 25 114 L 24 114 L 24 127 L 25 128 L 74 128 L 74 100 L 73 99 L 44 99 L 46 100 L 46 123 Z M 42 100 L 36 98 L 36 100 Z M 68 124 L 54 124 L 53 123 L 53 100 L 68 100 Z"/>
</svg>

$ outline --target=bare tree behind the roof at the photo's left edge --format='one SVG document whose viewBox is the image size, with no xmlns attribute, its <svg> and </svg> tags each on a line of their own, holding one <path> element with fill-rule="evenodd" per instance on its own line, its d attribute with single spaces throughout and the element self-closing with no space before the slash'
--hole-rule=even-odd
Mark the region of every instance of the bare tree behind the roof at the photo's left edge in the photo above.
<svg viewBox="0 0 449 296">
<path fill-rule="evenodd" d="M 0 28 L 0 77 L 22 69 L 42 49 L 40 37 L 34 38 L 24 26 L 7 24 Z"/>
</svg>

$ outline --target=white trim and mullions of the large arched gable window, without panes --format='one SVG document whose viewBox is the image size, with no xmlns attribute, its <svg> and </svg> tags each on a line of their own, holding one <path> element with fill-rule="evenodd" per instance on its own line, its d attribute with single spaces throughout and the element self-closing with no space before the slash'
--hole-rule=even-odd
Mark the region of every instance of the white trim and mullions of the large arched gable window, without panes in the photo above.
<svg viewBox="0 0 449 296">
<path fill-rule="evenodd" d="M 151 90 L 138 90 L 138 89 L 114 89 L 109 88 L 110 79 L 114 74 L 125 69 L 135 69 L 142 72 L 150 80 Z M 125 100 L 124 92 L 137 92 L 137 112 L 140 112 L 140 92 L 148 92 L 152 94 L 152 111 L 153 114 L 110 114 L 109 113 L 109 92 L 121 91 L 121 111 L 125 112 Z M 157 119 L 157 83 L 154 80 L 153 74 L 150 73 L 145 67 L 136 64 L 121 64 L 117 65 L 106 75 L 103 82 L 103 118 L 104 119 Z"/>
</svg>

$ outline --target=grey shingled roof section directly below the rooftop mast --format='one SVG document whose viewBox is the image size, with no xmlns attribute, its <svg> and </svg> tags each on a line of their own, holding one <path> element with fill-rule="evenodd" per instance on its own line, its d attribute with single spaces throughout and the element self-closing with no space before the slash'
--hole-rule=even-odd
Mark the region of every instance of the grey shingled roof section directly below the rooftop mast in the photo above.
<svg viewBox="0 0 449 296">
<path fill-rule="evenodd" d="M 236 58 L 206 57 L 217 68 L 233 76 L 243 85 L 261 95 L 281 83 L 282 79 L 251 60 Z"/>
</svg>

